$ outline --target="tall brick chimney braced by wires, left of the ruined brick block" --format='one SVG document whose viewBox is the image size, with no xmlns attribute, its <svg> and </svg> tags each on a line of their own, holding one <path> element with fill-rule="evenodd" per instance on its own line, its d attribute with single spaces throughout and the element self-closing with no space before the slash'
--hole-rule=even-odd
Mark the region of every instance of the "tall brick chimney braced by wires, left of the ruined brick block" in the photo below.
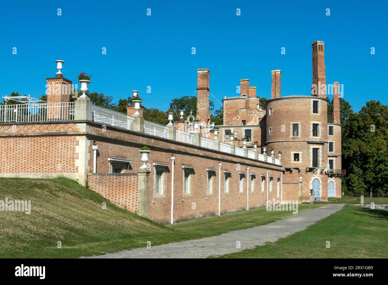
<svg viewBox="0 0 388 285">
<path fill-rule="evenodd" d="M 209 109 L 209 78 L 210 71 L 207 68 L 197 69 L 197 116 L 196 119 L 205 124 L 210 123 Z"/>
</svg>

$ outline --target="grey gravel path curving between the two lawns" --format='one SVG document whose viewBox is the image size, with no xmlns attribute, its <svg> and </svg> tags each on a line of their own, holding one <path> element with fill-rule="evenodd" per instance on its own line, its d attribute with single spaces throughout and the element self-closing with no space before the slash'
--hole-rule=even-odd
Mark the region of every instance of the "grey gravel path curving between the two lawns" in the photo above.
<svg viewBox="0 0 388 285">
<path fill-rule="evenodd" d="M 206 258 L 211 255 L 223 255 L 244 249 L 275 242 L 298 231 L 303 231 L 317 221 L 340 211 L 343 204 L 332 204 L 311 209 L 292 218 L 275 221 L 267 225 L 255 226 L 245 230 L 230 231 L 214 237 L 173 242 L 170 244 L 123 250 L 100 256 L 84 258 Z M 237 248 L 240 244 L 240 248 Z"/>
</svg>

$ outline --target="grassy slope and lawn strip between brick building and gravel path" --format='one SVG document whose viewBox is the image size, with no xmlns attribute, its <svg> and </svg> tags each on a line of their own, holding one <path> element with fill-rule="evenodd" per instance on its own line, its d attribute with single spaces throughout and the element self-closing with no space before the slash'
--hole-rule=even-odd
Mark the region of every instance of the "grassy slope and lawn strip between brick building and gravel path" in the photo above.
<svg viewBox="0 0 388 285">
<path fill-rule="evenodd" d="M 66 178 L 0 178 L 0 200 L 31 200 L 31 214 L 0 211 L 0 258 L 79 257 L 166 244 L 292 216 L 265 208 L 163 226 L 107 202 Z M 102 209 L 102 202 L 107 208 Z M 321 205 L 303 204 L 299 212 Z M 57 248 L 57 242 L 62 248 Z"/>
</svg>

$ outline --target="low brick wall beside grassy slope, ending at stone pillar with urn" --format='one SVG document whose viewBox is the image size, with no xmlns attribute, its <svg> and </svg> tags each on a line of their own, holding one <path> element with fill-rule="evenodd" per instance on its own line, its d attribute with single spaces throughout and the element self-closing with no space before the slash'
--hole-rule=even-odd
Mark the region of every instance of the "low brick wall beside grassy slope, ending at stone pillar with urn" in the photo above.
<svg viewBox="0 0 388 285">
<path fill-rule="evenodd" d="M 137 211 L 137 174 L 88 174 L 88 188 L 131 212 Z"/>
</svg>

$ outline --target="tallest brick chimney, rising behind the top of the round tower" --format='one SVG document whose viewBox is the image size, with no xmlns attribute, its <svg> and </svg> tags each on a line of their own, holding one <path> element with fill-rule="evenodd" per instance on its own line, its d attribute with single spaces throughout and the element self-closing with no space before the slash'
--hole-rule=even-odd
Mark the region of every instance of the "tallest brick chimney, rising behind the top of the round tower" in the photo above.
<svg viewBox="0 0 388 285">
<path fill-rule="evenodd" d="M 311 95 L 326 98 L 325 42 L 312 43 L 313 83 Z"/>
</svg>

